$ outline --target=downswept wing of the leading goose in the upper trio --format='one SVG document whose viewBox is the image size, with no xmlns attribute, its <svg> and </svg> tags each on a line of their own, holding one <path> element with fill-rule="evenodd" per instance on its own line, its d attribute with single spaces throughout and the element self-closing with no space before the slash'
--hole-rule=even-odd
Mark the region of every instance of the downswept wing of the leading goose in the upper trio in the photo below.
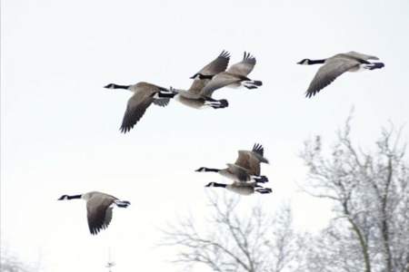
<svg viewBox="0 0 409 272">
<path fill-rule="evenodd" d="M 126 133 L 134 128 L 136 122 L 144 116 L 146 109 L 155 101 L 155 92 L 159 92 L 161 89 L 164 88 L 149 83 L 137 86 L 135 94 L 128 100 L 120 128 L 121 132 Z"/>
</svg>

